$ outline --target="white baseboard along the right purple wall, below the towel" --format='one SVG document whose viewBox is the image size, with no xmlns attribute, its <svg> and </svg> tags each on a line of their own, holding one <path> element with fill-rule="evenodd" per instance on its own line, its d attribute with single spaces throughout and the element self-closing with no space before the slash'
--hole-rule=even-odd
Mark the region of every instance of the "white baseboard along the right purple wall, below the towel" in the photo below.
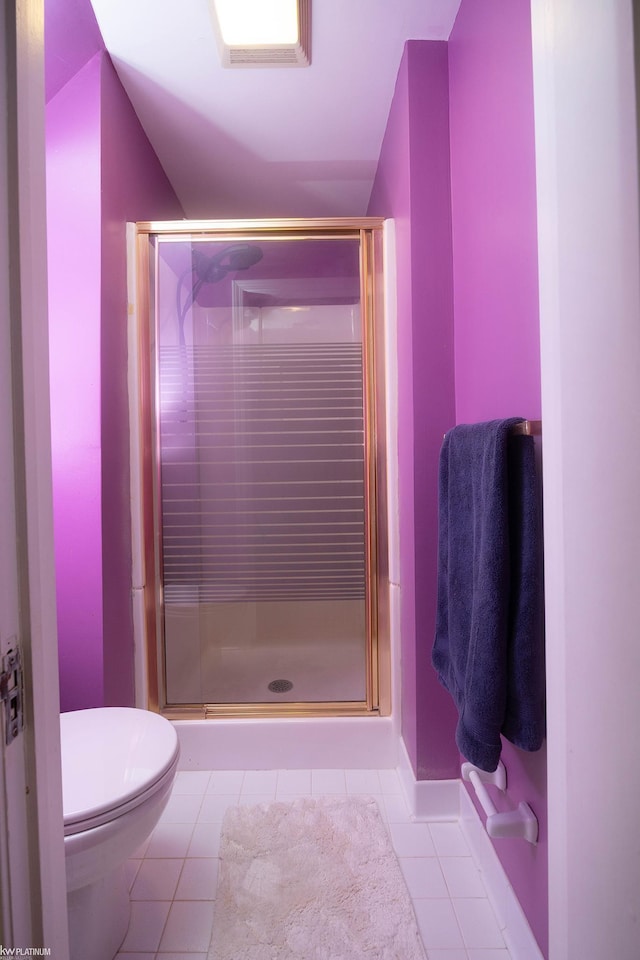
<svg viewBox="0 0 640 960">
<path fill-rule="evenodd" d="M 511 960 L 544 960 L 520 902 L 461 780 L 416 780 L 400 740 L 398 775 L 416 820 L 458 820 L 487 896 L 495 911 Z M 524 841 L 523 841 L 524 842 Z"/>
</svg>

